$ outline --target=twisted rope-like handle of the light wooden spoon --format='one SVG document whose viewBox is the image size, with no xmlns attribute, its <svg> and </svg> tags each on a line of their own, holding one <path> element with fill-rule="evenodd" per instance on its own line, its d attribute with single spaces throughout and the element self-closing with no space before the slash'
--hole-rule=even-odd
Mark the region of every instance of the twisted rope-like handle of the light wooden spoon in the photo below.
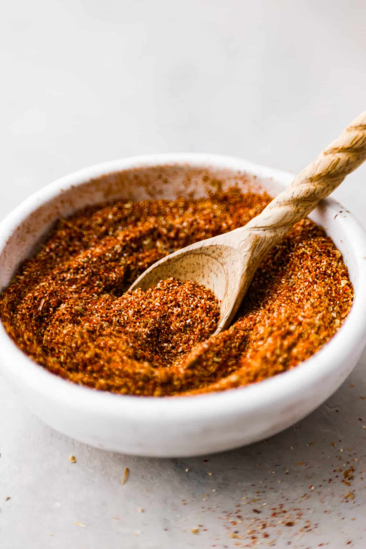
<svg viewBox="0 0 366 549">
<path fill-rule="evenodd" d="M 366 111 L 357 116 L 260 215 L 249 221 L 246 231 L 268 239 L 271 247 L 277 244 L 294 223 L 306 217 L 365 159 Z"/>
</svg>

